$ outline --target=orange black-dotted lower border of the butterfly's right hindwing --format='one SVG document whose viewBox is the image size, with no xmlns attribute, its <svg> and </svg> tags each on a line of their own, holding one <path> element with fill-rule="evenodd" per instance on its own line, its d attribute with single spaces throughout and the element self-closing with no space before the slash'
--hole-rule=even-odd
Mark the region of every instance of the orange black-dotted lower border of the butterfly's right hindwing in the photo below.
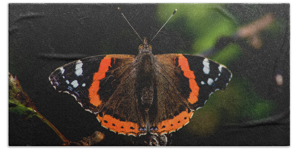
<svg viewBox="0 0 297 150">
<path fill-rule="evenodd" d="M 193 115 L 193 111 L 188 113 L 188 109 L 181 112 L 177 116 L 173 117 L 173 119 L 164 120 L 159 123 L 157 128 L 159 130 L 153 130 L 151 133 L 155 134 L 163 134 L 163 133 L 170 133 L 173 131 L 177 131 L 178 129 L 182 128 L 184 125 L 189 123 L 191 117 Z"/>
</svg>

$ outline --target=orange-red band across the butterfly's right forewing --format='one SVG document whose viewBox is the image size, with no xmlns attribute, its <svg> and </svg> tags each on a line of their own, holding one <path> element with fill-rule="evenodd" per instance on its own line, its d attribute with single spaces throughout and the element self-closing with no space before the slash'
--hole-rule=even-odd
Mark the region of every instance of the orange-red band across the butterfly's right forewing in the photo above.
<svg viewBox="0 0 297 150">
<path fill-rule="evenodd" d="M 190 70 L 188 59 L 182 54 L 178 54 L 178 64 L 181 66 L 181 70 L 184 71 L 184 76 L 189 78 L 189 86 L 191 88 L 191 93 L 188 98 L 190 104 L 194 104 L 198 101 L 199 86 L 195 81 L 195 75 L 192 70 Z"/>
</svg>

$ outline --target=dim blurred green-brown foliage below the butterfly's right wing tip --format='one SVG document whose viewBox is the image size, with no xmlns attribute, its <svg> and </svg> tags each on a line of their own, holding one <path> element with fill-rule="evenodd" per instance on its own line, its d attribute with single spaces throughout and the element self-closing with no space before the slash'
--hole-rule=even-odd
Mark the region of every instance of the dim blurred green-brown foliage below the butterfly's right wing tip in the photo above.
<svg viewBox="0 0 297 150">
<path fill-rule="evenodd" d="M 268 118 L 274 104 L 257 96 L 248 80 L 233 77 L 227 88 L 211 94 L 206 104 L 195 111 L 186 129 L 192 134 L 208 135 L 225 123 L 236 125 L 242 121 Z"/>
</svg>

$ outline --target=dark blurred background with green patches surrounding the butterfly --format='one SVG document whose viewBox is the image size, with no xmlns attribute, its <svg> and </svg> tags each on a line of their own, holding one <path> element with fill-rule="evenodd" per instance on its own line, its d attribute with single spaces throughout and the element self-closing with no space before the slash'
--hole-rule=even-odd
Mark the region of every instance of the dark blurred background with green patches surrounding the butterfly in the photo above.
<svg viewBox="0 0 297 150">
<path fill-rule="evenodd" d="M 226 65 L 233 78 L 226 90 L 212 94 L 189 124 L 173 133 L 178 146 L 290 145 L 290 5 L 289 4 L 10 4 L 9 71 L 38 111 L 70 141 L 95 130 L 105 134 L 97 145 L 132 146 L 139 137 L 117 135 L 103 127 L 67 93 L 58 93 L 48 76 L 84 57 L 138 54 L 141 37 L 153 38 L 154 54 L 200 54 L 222 37 L 270 13 L 274 22 L 251 39 L 227 44 L 210 59 Z M 276 83 L 281 75 L 282 84 Z M 9 145 L 57 145 L 63 142 L 39 118 L 9 112 Z"/>
</svg>

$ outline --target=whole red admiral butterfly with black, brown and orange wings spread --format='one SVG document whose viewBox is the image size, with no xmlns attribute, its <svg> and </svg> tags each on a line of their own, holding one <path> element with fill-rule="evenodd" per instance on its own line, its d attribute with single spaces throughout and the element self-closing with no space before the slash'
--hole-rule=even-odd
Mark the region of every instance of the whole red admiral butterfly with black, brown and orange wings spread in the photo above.
<svg viewBox="0 0 297 150">
<path fill-rule="evenodd" d="M 207 58 L 153 55 L 146 38 L 138 50 L 137 56 L 100 55 L 65 64 L 49 80 L 97 114 L 103 127 L 138 136 L 180 129 L 232 77 L 224 65 Z"/>
</svg>

